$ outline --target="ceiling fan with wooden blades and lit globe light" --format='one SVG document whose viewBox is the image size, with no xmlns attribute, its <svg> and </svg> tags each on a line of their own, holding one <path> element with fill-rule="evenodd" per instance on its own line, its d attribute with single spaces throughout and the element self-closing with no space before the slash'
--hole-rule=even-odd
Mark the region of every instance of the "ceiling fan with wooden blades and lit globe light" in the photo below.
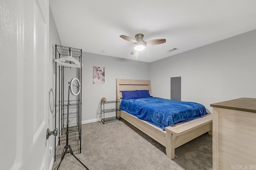
<svg viewBox="0 0 256 170">
<path fill-rule="evenodd" d="M 157 45 L 157 44 L 161 44 L 161 43 L 166 42 L 166 39 L 156 39 L 156 40 L 149 40 L 149 41 L 145 42 L 143 40 L 143 37 L 144 37 L 143 34 L 136 34 L 135 35 L 136 40 L 134 40 L 130 37 L 124 36 L 124 35 L 122 35 L 120 37 L 123 38 L 124 40 L 128 41 L 128 42 L 132 42 L 132 43 L 136 44 L 136 46 L 134 47 L 134 49 L 131 52 L 131 55 L 135 54 L 136 51 L 142 51 L 143 49 L 145 49 L 145 46 Z"/>
</svg>

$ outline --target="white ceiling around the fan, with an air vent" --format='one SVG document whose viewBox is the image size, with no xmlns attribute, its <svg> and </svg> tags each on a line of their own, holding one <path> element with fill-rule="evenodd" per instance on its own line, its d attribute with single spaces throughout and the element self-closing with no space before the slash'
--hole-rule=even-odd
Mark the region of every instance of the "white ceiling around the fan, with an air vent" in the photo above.
<svg viewBox="0 0 256 170">
<path fill-rule="evenodd" d="M 148 63 L 256 29 L 256 0 L 50 0 L 50 7 L 62 45 Z M 146 46 L 137 59 L 119 36 L 138 33 L 166 43 Z"/>
</svg>

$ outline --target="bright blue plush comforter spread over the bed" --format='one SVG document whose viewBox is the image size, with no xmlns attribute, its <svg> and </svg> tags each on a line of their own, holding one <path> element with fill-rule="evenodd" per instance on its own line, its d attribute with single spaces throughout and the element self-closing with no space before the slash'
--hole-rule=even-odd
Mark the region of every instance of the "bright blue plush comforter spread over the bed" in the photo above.
<svg viewBox="0 0 256 170">
<path fill-rule="evenodd" d="M 163 130 L 165 127 L 182 121 L 197 119 L 207 114 L 205 107 L 199 103 L 174 101 L 158 97 L 123 99 L 120 110 Z"/>
</svg>

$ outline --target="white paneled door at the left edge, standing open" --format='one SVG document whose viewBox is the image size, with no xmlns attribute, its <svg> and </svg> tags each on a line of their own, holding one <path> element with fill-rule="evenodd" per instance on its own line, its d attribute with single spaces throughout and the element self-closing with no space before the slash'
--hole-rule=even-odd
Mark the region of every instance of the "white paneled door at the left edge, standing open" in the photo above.
<svg viewBox="0 0 256 170">
<path fill-rule="evenodd" d="M 1 0 L 0 24 L 0 169 L 46 170 L 49 0 Z"/>
</svg>

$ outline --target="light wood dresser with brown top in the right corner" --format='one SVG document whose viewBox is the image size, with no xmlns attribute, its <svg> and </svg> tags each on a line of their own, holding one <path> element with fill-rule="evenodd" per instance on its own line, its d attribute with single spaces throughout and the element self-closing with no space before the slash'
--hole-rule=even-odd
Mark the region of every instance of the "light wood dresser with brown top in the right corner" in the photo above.
<svg viewBox="0 0 256 170">
<path fill-rule="evenodd" d="M 256 99 L 240 98 L 213 107 L 213 170 L 256 169 Z"/>
</svg>

